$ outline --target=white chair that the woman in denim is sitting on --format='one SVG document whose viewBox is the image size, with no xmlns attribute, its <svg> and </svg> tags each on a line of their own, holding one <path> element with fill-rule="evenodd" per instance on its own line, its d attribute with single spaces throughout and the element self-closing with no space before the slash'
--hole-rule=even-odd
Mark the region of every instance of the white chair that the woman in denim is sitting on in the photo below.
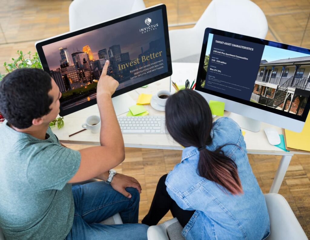
<svg viewBox="0 0 310 240">
<path fill-rule="evenodd" d="M 285 198 L 276 193 L 265 194 L 270 218 L 268 240 L 307 240 L 294 212 Z M 148 240 L 184 240 L 182 226 L 176 218 L 148 228 Z"/>
</svg>

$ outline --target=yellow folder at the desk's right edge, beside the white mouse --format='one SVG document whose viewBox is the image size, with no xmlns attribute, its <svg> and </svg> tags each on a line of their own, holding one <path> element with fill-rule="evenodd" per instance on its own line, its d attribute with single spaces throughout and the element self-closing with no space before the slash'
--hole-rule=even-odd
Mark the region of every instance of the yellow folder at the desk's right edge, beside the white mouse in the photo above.
<svg viewBox="0 0 310 240">
<path fill-rule="evenodd" d="M 286 146 L 289 148 L 310 151 L 310 114 L 308 115 L 303 130 L 296 133 L 285 129 Z"/>
</svg>

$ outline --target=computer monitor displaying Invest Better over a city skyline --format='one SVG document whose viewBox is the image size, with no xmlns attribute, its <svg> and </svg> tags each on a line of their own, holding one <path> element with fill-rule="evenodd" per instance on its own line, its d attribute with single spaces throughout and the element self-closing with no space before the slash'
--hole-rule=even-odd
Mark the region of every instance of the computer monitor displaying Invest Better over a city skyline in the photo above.
<svg viewBox="0 0 310 240">
<path fill-rule="evenodd" d="M 96 103 L 94 80 L 100 78 L 106 60 L 110 62 L 108 75 L 119 82 L 112 97 L 172 74 L 163 4 L 44 39 L 35 45 L 44 71 L 62 92 L 60 116 Z"/>
</svg>

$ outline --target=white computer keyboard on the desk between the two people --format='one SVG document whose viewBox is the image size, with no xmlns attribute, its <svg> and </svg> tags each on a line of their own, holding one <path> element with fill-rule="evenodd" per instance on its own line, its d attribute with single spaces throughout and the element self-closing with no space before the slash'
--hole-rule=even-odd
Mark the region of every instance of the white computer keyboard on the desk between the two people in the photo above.
<svg viewBox="0 0 310 240">
<path fill-rule="evenodd" d="M 166 133 L 165 116 L 117 117 L 122 133 Z"/>
</svg>

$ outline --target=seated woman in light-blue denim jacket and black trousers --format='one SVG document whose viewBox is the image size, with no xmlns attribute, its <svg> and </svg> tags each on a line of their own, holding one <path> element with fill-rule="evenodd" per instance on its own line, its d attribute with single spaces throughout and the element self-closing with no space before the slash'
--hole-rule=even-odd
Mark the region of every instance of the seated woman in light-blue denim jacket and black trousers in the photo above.
<svg viewBox="0 0 310 240">
<path fill-rule="evenodd" d="M 206 100 L 184 89 L 166 102 L 166 127 L 185 148 L 181 163 L 159 180 L 142 223 L 156 225 L 171 210 L 186 239 L 266 238 L 266 202 L 237 123 L 222 117 L 212 124 Z"/>
</svg>

